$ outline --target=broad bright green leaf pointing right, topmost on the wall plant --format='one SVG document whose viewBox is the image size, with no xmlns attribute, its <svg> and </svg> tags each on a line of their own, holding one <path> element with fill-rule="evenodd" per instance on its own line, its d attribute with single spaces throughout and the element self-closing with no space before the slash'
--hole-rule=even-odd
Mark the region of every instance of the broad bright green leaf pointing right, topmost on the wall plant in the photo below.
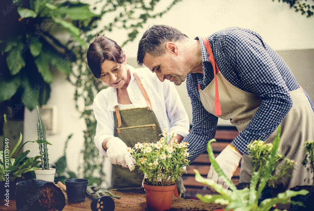
<svg viewBox="0 0 314 211">
<path fill-rule="evenodd" d="M 66 14 L 72 20 L 87 20 L 93 17 L 99 17 L 99 15 L 92 13 L 89 10 L 88 4 L 77 4 L 66 7 L 60 7 L 57 10 L 58 13 Z"/>
</svg>

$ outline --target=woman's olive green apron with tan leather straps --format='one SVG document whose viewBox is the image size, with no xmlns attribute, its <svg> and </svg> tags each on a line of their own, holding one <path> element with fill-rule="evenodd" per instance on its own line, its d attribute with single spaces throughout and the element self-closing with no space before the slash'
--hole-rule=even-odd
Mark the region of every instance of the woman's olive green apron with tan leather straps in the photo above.
<svg viewBox="0 0 314 211">
<path fill-rule="evenodd" d="M 134 73 L 134 77 L 147 102 L 144 108 L 118 109 L 115 106 L 115 129 L 114 136 L 123 140 L 124 143 L 133 148 L 136 143 L 157 142 L 162 134 L 156 115 L 152 109 L 147 92 L 140 79 Z M 125 190 L 128 192 L 143 192 L 143 173 L 136 167 L 133 171 L 129 168 L 114 165 L 112 173 L 112 189 Z"/>
</svg>

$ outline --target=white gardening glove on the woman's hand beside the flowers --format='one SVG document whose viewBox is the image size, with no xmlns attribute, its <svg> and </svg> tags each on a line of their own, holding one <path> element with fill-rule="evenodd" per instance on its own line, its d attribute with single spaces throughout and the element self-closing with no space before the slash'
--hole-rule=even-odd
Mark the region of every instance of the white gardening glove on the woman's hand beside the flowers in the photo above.
<svg viewBox="0 0 314 211">
<path fill-rule="evenodd" d="M 107 142 L 107 155 L 112 164 L 129 167 L 130 171 L 134 170 L 136 161 L 127 151 L 127 145 L 119 138 L 113 137 Z"/>
</svg>

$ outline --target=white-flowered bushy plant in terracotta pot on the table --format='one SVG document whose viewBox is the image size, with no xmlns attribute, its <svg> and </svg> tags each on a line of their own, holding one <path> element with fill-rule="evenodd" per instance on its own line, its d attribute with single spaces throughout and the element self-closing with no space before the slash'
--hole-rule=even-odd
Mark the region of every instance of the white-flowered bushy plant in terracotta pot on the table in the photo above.
<svg viewBox="0 0 314 211">
<path fill-rule="evenodd" d="M 139 171 L 144 174 L 146 203 L 147 207 L 153 210 L 170 209 L 172 193 L 176 187 L 175 181 L 181 177 L 189 163 L 187 148 L 189 144 L 173 140 L 168 145 L 176 133 L 164 129 L 162 135 L 157 143 L 138 142 L 133 148 L 128 148 Z M 160 191 L 166 191 L 168 194 Z M 165 197 L 165 201 L 162 201 L 162 197 Z"/>
</svg>

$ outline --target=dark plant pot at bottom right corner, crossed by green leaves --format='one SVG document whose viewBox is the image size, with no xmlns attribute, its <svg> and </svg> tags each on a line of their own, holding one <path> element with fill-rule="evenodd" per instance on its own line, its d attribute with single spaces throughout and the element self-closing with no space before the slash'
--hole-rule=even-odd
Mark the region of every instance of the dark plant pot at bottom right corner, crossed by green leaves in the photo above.
<svg viewBox="0 0 314 211">
<path fill-rule="evenodd" d="M 305 207 L 301 207 L 297 204 L 290 205 L 290 211 L 308 211 L 313 209 L 314 204 L 314 186 L 306 185 L 306 186 L 296 186 L 290 188 L 292 191 L 300 191 L 307 190 L 309 193 L 306 195 L 297 195 L 295 197 L 291 197 L 291 201 L 302 202 Z"/>
</svg>

